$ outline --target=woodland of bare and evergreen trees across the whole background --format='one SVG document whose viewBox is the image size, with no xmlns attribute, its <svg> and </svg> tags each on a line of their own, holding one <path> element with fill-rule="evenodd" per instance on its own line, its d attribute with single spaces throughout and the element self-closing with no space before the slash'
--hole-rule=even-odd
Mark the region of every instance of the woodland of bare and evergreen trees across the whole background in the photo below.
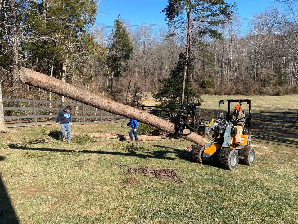
<svg viewBox="0 0 298 224">
<path fill-rule="evenodd" d="M 181 11 L 171 15 L 174 3 Z M 119 15 L 110 30 L 94 26 L 93 0 L 0 0 L 2 96 L 58 99 L 21 84 L 20 66 L 132 106 L 164 91 L 175 71 L 196 94 L 298 93 L 295 0 L 276 0 L 248 23 L 235 4 L 210 3 L 209 14 L 204 4 L 169 0 L 169 26 L 133 28 Z"/>
</svg>

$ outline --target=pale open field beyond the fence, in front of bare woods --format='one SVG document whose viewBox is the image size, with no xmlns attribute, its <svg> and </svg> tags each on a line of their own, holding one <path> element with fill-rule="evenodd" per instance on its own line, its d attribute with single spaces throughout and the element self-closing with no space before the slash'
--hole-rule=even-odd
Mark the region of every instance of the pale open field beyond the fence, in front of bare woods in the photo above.
<svg viewBox="0 0 298 224">
<path fill-rule="evenodd" d="M 253 112 L 263 111 L 291 111 L 297 112 L 298 110 L 298 95 L 286 96 L 215 96 L 215 95 L 202 95 L 204 102 L 201 105 L 202 109 L 218 109 L 219 100 L 223 99 L 250 99 Z M 152 96 L 143 102 L 144 105 L 155 105 Z"/>
</svg>

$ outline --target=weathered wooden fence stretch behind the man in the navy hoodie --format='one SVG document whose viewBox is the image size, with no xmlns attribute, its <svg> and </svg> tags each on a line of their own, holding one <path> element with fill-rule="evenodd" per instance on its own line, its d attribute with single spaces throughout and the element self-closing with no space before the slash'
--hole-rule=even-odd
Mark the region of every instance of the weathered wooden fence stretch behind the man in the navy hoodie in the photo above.
<svg viewBox="0 0 298 224">
<path fill-rule="evenodd" d="M 3 99 L 7 127 L 53 124 L 63 108 L 71 106 L 74 124 L 102 124 L 126 121 L 125 117 L 85 105 L 48 100 Z"/>
</svg>

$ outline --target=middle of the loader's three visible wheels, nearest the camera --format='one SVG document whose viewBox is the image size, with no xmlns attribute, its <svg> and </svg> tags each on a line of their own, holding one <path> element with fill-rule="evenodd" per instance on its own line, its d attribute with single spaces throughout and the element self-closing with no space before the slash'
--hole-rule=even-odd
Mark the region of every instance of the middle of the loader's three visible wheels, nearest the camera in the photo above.
<svg viewBox="0 0 298 224">
<path fill-rule="evenodd" d="M 222 148 L 218 155 L 219 165 L 226 170 L 234 170 L 238 165 L 238 153 L 235 149 Z"/>
</svg>

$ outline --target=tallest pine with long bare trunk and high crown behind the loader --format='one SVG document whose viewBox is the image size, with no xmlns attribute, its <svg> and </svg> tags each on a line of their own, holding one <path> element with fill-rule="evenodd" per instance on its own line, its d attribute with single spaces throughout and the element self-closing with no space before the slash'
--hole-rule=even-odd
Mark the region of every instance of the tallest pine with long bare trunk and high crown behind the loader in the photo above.
<svg viewBox="0 0 298 224">
<path fill-rule="evenodd" d="M 225 18 L 230 19 L 235 3 L 227 4 L 225 0 L 169 0 L 167 7 L 161 12 L 165 12 L 168 24 L 174 25 L 182 30 L 187 29 L 187 42 L 185 50 L 185 65 L 182 86 L 182 103 L 184 101 L 185 80 L 190 46 L 191 33 L 197 35 L 211 35 L 214 38 L 222 38 L 215 26 L 225 23 Z M 187 24 L 187 27 L 184 27 Z"/>
</svg>

